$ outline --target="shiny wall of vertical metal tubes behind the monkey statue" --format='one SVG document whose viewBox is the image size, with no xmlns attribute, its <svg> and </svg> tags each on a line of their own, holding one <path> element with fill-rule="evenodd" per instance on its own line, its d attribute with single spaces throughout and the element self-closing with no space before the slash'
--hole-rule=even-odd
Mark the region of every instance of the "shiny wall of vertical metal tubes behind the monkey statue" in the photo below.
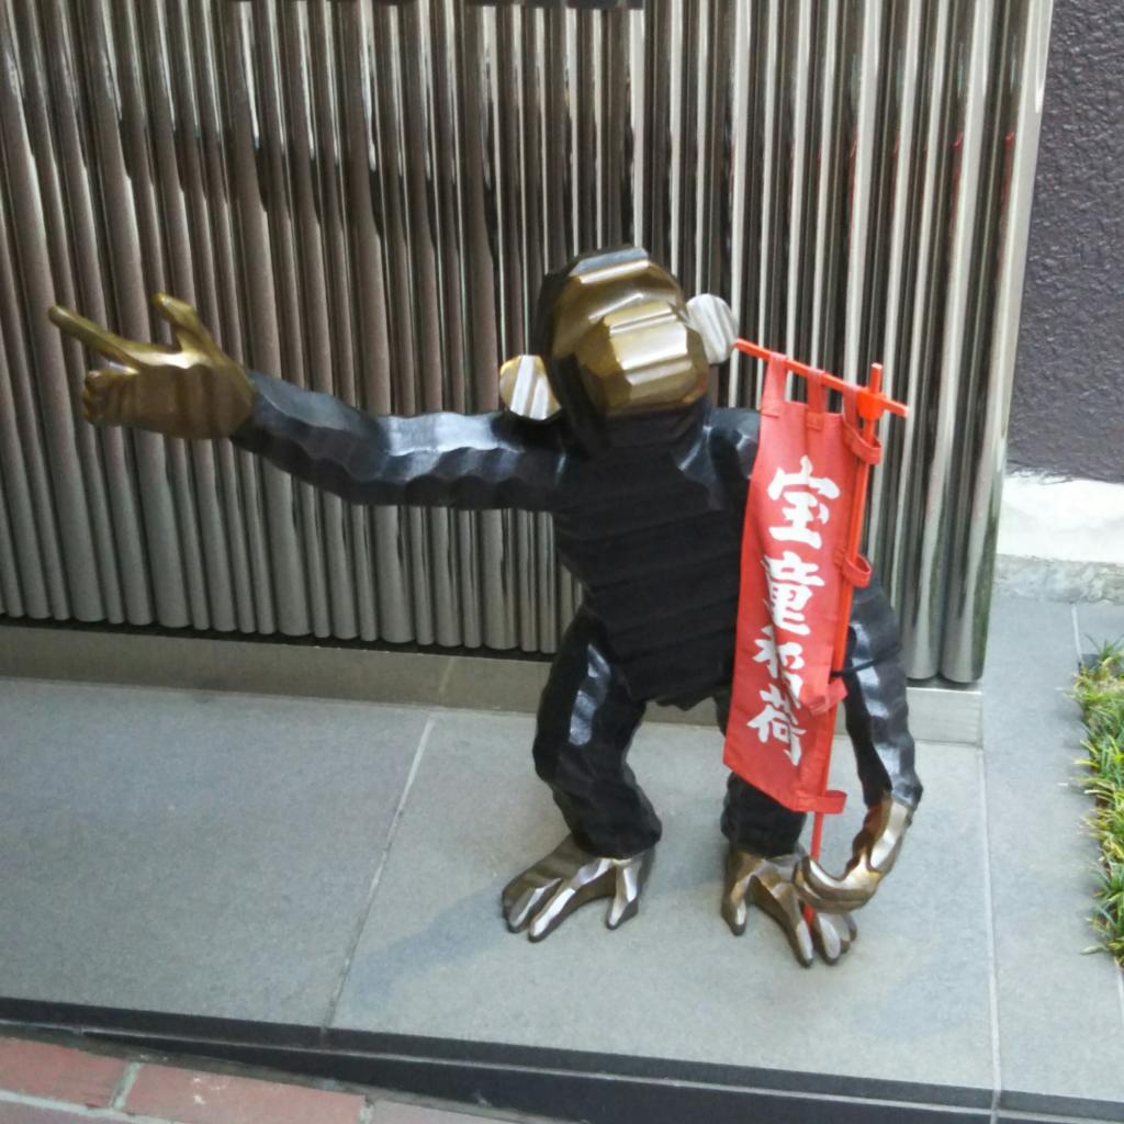
<svg viewBox="0 0 1124 1124">
<path fill-rule="evenodd" d="M 524 513 L 355 508 L 78 420 L 72 305 L 374 411 L 497 405 L 544 270 L 636 242 L 895 426 L 910 674 L 981 671 L 1050 0 L 0 0 L 0 614 L 550 652 Z M 735 357 L 716 398 L 753 404 Z"/>
</svg>

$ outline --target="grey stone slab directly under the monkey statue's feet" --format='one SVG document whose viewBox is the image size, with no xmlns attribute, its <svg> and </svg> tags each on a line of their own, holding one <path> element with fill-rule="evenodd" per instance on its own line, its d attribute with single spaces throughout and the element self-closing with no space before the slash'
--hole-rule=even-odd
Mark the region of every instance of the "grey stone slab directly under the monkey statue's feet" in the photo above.
<svg viewBox="0 0 1124 1124">
<path fill-rule="evenodd" d="M 796 1084 L 845 1075 L 990 1104 L 977 751 L 923 747 L 925 803 L 892 881 L 858 918 L 844 963 L 809 971 L 768 918 L 741 940 L 722 922 L 720 740 L 670 725 L 644 727 L 633 752 L 665 828 L 640 917 L 609 932 L 591 906 L 538 945 L 507 933 L 501 887 L 564 834 L 531 736 L 520 716 L 437 718 L 334 1027 L 787 1071 Z M 844 782 L 847 758 L 841 747 Z M 840 864 L 859 801 L 841 818 L 826 852 Z"/>
</svg>

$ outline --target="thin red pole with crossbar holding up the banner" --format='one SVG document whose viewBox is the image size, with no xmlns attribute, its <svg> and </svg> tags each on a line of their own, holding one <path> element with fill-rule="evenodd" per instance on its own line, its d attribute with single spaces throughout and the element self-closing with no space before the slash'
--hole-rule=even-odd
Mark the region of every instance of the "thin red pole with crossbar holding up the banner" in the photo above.
<svg viewBox="0 0 1124 1124">
<path fill-rule="evenodd" d="M 738 351 L 744 352 L 746 355 L 752 355 L 754 359 L 760 359 L 768 362 L 773 357 L 773 353 L 767 347 L 761 347 L 758 344 L 750 343 L 747 339 L 736 341 L 736 346 Z M 908 417 L 909 409 L 903 402 L 896 402 L 892 398 L 887 398 L 882 393 L 882 364 L 872 363 L 870 368 L 870 378 L 865 387 L 860 387 L 853 382 L 845 382 L 843 379 L 836 378 L 834 374 L 828 374 L 826 371 L 819 371 L 815 368 L 808 366 L 805 363 L 799 363 L 796 360 L 783 356 L 782 361 L 785 363 L 786 370 L 790 371 L 792 374 L 798 374 L 801 378 L 818 378 L 819 381 L 832 390 L 837 390 L 849 399 L 853 405 L 855 415 L 860 419 L 860 436 L 863 441 L 873 445 L 877 441 L 878 434 L 878 423 L 885 413 L 896 414 L 898 417 Z M 856 568 L 860 563 L 859 554 L 859 543 L 862 538 L 862 525 L 867 514 L 867 487 L 870 482 L 870 462 L 859 457 L 859 465 L 855 474 L 854 492 L 851 499 L 851 522 L 847 527 L 846 537 L 846 552 L 844 555 L 845 564 Z M 851 601 L 853 596 L 853 586 L 850 581 L 843 582 L 843 592 L 840 596 L 840 614 L 839 622 L 835 628 L 835 644 L 833 650 L 833 670 L 842 671 L 844 663 L 846 661 L 846 640 L 847 629 L 851 624 Z M 832 728 L 835 724 L 835 713 L 839 704 L 831 709 L 831 723 Z M 824 777 L 823 777 L 823 791 L 827 791 L 827 773 L 831 765 L 831 754 L 828 752 L 827 761 L 824 765 Z M 815 813 L 815 818 L 813 821 L 812 827 L 812 856 L 813 859 L 819 858 L 821 847 L 823 846 L 823 835 L 824 835 L 824 813 Z M 806 907 L 805 914 L 810 923 L 812 910 Z"/>
</svg>

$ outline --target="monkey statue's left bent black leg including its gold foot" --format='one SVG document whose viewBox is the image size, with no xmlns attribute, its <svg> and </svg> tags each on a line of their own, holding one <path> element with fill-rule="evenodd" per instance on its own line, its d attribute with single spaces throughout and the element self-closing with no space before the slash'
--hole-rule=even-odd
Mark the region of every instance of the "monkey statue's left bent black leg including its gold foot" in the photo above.
<svg viewBox="0 0 1124 1124">
<path fill-rule="evenodd" d="M 535 769 L 570 835 L 504 890 L 513 932 L 549 935 L 574 909 L 611 897 L 608 924 L 634 916 L 660 819 L 625 762 L 644 705 L 628 694 L 597 622 L 579 613 L 538 706 Z"/>
</svg>

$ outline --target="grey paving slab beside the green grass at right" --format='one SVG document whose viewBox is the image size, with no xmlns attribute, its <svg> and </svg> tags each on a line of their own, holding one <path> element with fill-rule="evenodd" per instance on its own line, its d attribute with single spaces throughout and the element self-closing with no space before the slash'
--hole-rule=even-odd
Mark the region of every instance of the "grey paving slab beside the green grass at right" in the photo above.
<svg viewBox="0 0 1124 1124">
<path fill-rule="evenodd" d="M 1077 659 L 1070 606 L 996 601 L 984 718 L 1001 1104 L 1111 1120 L 1124 1117 L 1124 1014 L 1115 964 L 1087 954 Z"/>
</svg>

